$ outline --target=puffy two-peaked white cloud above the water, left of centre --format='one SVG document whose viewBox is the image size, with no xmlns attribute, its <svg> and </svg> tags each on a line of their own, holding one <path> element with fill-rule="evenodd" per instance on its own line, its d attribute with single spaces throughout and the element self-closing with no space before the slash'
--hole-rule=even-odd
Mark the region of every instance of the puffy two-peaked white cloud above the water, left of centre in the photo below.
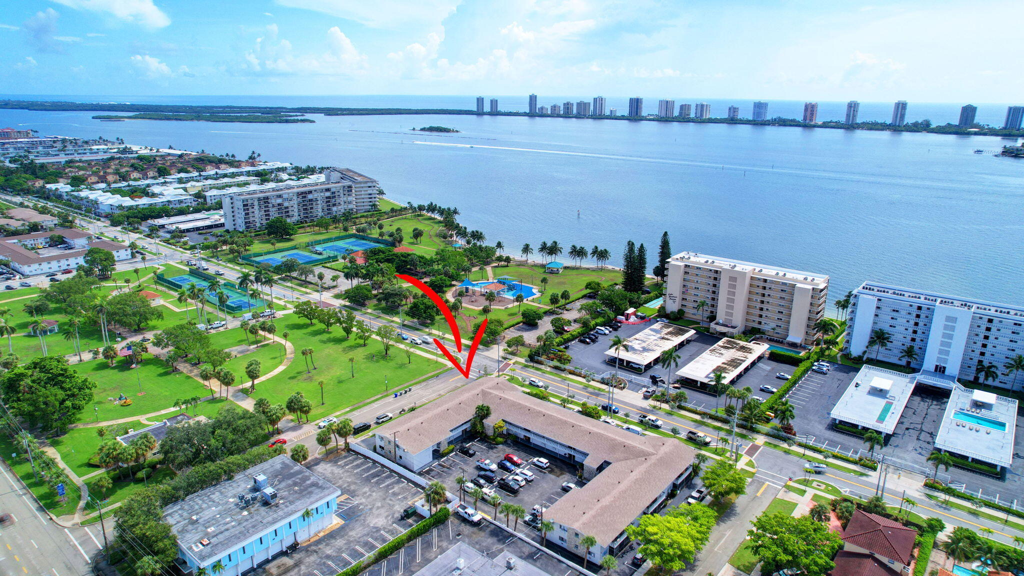
<svg viewBox="0 0 1024 576">
<path fill-rule="evenodd" d="M 256 46 L 246 52 L 246 68 L 251 72 L 281 75 L 345 76 L 366 71 L 367 56 L 338 27 L 327 31 L 326 49 L 319 53 L 297 54 L 292 43 L 279 38 L 278 25 L 266 27 L 256 39 Z"/>
</svg>

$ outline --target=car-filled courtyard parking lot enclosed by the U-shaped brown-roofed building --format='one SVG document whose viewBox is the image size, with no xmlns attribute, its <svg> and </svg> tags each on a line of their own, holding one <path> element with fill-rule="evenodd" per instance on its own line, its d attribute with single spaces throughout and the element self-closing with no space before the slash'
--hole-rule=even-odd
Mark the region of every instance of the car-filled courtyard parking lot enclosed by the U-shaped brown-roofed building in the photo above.
<svg viewBox="0 0 1024 576">
<path fill-rule="evenodd" d="M 465 476 L 468 480 L 474 479 L 477 472 L 482 470 L 482 468 L 476 464 L 478 459 L 487 459 L 495 464 L 498 464 L 505 459 L 505 454 L 515 454 L 523 460 L 523 464 L 517 467 L 525 468 L 531 472 L 534 475 L 534 481 L 527 481 L 526 485 L 519 490 L 518 494 L 512 494 L 502 490 L 498 484 L 485 484 L 485 486 L 493 489 L 495 493 L 501 497 L 502 502 L 518 504 L 522 506 L 527 513 L 535 505 L 548 507 L 564 496 L 565 492 L 562 491 L 563 482 L 570 482 L 577 486 L 583 485 L 582 481 L 577 478 L 574 467 L 558 460 L 557 458 L 554 458 L 553 456 L 543 454 L 531 448 L 511 443 L 505 443 L 497 446 L 479 440 L 470 442 L 467 446 L 476 451 L 475 456 L 470 457 L 460 454 L 458 451 L 453 452 L 421 471 L 421 476 L 439 481 L 445 488 L 449 489 L 449 492 L 458 495 L 459 484 L 456 482 L 456 479 L 460 476 Z M 547 469 L 538 467 L 535 463 L 532 463 L 532 459 L 536 457 L 547 458 L 550 462 L 550 466 Z M 495 474 L 499 479 L 513 476 L 511 472 L 501 468 L 499 468 Z M 473 498 L 471 496 L 467 495 L 465 500 L 469 503 L 469 505 L 473 505 Z M 477 506 L 480 513 L 492 518 L 495 517 L 494 506 L 485 503 L 483 500 L 477 502 Z"/>
</svg>

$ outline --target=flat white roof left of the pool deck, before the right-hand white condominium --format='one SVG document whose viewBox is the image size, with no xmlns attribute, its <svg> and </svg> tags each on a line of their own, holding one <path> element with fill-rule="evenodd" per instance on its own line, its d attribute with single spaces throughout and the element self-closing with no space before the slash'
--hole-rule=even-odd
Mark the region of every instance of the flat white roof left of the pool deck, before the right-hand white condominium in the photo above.
<svg viewBox="0 0 1024 576">
<path fill-rule="evenodd" d="M 910 400 L 914 381 L 910 374 L 865 365 L 828 416 L 883 434 L 893 434 Z"/>
</svg>

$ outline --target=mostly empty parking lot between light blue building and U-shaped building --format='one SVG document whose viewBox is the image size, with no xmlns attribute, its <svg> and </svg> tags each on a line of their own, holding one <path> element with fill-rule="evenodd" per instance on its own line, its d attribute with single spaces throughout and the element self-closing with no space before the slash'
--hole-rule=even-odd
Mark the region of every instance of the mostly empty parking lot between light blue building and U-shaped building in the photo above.
<svg viewBox="0 0 1024 576">
<path fill-rule="evenodd" d="M 423 489 L 353 452 L 309 466 L 341 490 L 337 517 L 342 526 L 299 548 L 293 560 L 303 574 L 337 574 L 423 520 L 401 518 Z"/>
</svg>

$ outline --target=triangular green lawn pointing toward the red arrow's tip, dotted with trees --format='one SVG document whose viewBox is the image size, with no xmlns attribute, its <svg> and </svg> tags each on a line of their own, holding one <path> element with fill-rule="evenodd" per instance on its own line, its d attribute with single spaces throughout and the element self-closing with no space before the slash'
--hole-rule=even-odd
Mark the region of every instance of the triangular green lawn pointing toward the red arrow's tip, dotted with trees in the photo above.
<svg viewBox="0 0 1024 576">
<path fill-rule="evenodd" d="M 284 331 L 291 334 L 289 340 L 295 346 L 296 357 L 292 364 L 269 380 L 256 386 L 255 398 L 266 398 L 271 403 L 284 404 L 295 392 L 302 392 L 313 403 L 310 419 L 337 412 L 353 404 L 385 393 L 385 378 L 388 389 L 402 387 L 429 372 L 442 366 L 437 362 L 417 354 L 412 356 L 412 363 L 396 346 L 391 354 L 384 357 L 380 341 L 371 339 L 367 346 L 354 337 L 345 338 L 345 333 L 337 326 L 331 332 L 325 332 L 319 324 L 309 326 L 309 323 L 294 315 L 278 320 L 278 334 Z M 316 369 L 310 367 L 306 373 L 306 363 L 298 351 L 305 347 L 313 349 L 312 361 Z M 351 374 L 352 365 L 349 359 L 355 359 L 355 377 Z M 321 388 L 317 382 L 323 380 L 325 405 L 321 406 Z"/>
</svg>

